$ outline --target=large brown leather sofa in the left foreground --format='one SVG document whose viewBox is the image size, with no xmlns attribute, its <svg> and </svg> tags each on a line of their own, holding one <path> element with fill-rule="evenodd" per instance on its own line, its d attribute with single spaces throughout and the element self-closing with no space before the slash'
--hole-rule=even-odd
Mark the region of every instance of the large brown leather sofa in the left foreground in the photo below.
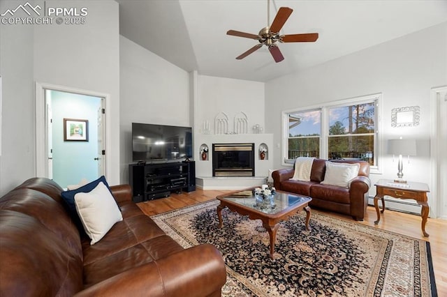
<svg viewBox="0 0 447 297">
<path fill-rule="evenodd" d="M 184 249 L 110 187 L 123 220 L 98 243 L 73 224 L 62 189 L 31 178 L 0 199 L 0 296 L 221 296 L 219 250 Z"/>
</svg>

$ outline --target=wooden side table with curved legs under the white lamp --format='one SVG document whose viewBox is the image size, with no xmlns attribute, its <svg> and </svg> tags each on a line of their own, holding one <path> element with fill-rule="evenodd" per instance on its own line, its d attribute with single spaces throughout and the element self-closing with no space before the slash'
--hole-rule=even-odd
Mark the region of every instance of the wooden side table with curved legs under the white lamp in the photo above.
<svg viewBox="0 0 447 297">
<path fill-rule="evenodd" d="M 429 235 L 425 232 L 425 224 L 427 223 L 430 207 L 428 206 L 427 192 L 430 192 L 426 183 L 395 183 L 390 179 L 380 179 L 376 184 L 376 197 L 374 197 L 374 207 L 376 208 L 377 220 L 374 224 L 379 224 L 380 213 L 385 211 L 384 196 L 391 196 L 399 199 L 414 199 L 422 206 L 420 216 L 422 217 L 422 233 L 425 237 Z M 379 204 L 377 201 L 382 200 L 382 211 L 379 212 Z"/>
</svg>

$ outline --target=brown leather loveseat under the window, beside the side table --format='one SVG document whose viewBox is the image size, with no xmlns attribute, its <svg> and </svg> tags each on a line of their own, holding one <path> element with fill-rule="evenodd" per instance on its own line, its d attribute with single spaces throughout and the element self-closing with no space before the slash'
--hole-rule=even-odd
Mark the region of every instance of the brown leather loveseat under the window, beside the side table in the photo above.
<svg viewBox="0 0 447 297">
<path fill-rule="evenodd" d="M 312 197 L 310 206 L 352 215 L 354 220 L 363 220 L 368 205 L 369 163 L 360 160 L 331 160 L 331 162 L 358 163 L 358 176 L 351 181 L 349 188 L 336 185 L 323 185 L 325 176 L 325 162 L 315 159 L 312 164 L 310 181 L 293 181 L 294 169 L 279 169 L 272 172 L 274 188 L 286 192 Z"/>
</svg>

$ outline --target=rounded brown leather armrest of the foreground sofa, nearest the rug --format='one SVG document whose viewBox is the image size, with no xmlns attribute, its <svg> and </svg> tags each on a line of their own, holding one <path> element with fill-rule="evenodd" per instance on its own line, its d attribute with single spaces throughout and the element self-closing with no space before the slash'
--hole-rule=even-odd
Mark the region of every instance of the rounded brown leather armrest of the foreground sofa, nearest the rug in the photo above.
<svg viewBox="0 0 447 297">
<path fill-rule="evenodd" d="M 219 250 L 203 244 L 124 271 L 75 296 L 220 296 L 225 282 Z"/>
</svg>

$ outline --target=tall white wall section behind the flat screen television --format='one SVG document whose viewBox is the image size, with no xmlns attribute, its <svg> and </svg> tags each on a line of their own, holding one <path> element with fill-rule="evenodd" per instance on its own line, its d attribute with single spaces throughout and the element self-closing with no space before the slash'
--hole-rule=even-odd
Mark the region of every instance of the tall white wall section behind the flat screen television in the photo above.
<svg viewBox="0 0 447 297">
<path fill-rule="evenodd" d="M 132 123 L 192 126 L 189 73 L 119 36 L 122 183 L 132 163 Z M 194 131 L 193 131 L 194 132 Z"/>
</svg>

